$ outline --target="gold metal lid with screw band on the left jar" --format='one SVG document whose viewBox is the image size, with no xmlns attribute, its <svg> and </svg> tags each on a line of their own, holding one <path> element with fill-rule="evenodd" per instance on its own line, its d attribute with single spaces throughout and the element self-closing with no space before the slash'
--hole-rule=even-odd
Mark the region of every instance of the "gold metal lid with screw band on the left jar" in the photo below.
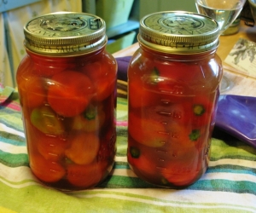
<svg viewBox="0 0 256 213">
<path fill-rule="evenodd" d="M 105 21 L 94 14 L 58 12 L 24 26 L 25 47 L 42 55 L 66 56 L 94 52 L 106 45 Z"/>
</svg>

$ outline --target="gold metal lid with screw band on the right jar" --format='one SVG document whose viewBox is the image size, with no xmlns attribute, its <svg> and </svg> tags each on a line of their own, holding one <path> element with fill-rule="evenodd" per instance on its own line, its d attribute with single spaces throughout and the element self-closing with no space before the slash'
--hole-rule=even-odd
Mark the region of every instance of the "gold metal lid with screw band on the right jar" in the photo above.
<svg viewBox="0 0 256 213">
<path fill-rule="evenodd" d="M 165 11 L 143 17 L 138 41 L 164 53 L 194 54 L 217 48 L 218 33 L 218 23 L 205 15 Z"/>
</svg>

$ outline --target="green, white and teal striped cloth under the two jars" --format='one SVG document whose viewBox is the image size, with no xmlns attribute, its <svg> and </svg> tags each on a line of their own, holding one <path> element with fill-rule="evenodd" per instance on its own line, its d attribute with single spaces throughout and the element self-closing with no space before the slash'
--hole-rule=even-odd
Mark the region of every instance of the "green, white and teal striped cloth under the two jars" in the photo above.
<svg viewBox="0 0 256 213">
<path fill-rule="evenodd" d="M 77 192 L 44 187 L 28 164 L 18 95 L 0 106 L 0 213 L 256 212 L 256 149 L 225 133 L 212 138 L 207 173 L 185 189 L 140 180 L 126 159 L 127 100 L 118 98 L 117 154 L 99 186 Z"/>
</svg>

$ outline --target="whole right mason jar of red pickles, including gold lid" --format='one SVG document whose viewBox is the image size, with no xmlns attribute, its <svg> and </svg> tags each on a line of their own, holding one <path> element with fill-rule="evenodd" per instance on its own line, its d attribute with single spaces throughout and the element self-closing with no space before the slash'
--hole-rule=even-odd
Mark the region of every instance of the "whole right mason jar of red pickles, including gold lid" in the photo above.
<svg viewBox="0 0 256 213">
<path fill-rule="evenodd" d="M 218 23 L 159 12 L 140 22 L 128 68 L 131 169 L 160 187 L 185 187 L 207 170 L 222 77 Z"/>
</svg>

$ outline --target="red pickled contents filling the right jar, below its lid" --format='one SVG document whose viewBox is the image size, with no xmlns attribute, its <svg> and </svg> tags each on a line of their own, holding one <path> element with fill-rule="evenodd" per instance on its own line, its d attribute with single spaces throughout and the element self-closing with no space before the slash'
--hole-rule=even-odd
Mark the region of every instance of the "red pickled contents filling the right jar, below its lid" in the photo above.
<svg viewBox="0 0 256 213">
<path fill-rule="evenodd" d="M 127 157 L 144 181 L 186 187 L 207 170 L 221 60 L 141 46 L 129 67 Z"/>
</svg>

